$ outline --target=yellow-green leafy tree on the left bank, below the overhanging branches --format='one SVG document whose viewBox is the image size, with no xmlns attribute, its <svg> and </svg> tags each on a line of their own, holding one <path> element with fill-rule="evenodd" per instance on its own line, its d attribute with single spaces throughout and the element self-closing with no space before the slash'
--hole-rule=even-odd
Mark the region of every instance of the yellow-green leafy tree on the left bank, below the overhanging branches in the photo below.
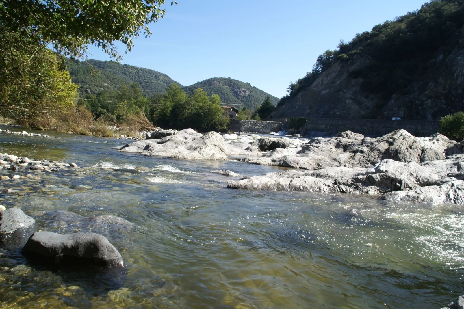
<svg viewBox="0 0 464 309">
<path fill-rule="evenodd" d="M 77 85 L 51 50 L 13 32 L 0 31 L 0 40 L 2 116 L 34 126 L 74 103 Z"/>
</svg>

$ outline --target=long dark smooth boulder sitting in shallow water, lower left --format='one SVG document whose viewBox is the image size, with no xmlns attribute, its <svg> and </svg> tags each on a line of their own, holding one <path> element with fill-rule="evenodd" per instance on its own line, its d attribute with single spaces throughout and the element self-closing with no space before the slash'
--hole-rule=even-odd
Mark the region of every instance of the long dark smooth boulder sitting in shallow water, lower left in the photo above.
<svg viewBox="0 0 464 309">
<path fill-rule="evenodd" d="M 23 254 L 54 263 L 123 266 L 116 248 L 104 236 L 95 233 L 35 232 L 24 246 Z"/>
</svg>

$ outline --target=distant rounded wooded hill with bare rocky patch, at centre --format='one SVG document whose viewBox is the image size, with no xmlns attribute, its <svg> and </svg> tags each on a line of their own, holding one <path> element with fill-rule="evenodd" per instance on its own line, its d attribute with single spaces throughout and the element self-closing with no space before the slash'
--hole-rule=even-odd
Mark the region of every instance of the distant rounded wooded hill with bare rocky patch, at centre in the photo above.
<svg viewBox="0 0 464 309">
<path fill-rule="evenodd" d="M 259 105 L 263 103 L 266 96 L 271 97 L 274 105 L 277 104 L 279 99 L 271 96 L 269 93 L 264 92 L 249 83 L 244 83 L 230 77 L 213 77 L 196 84 L 184 87 L 187 92 L 192 92 L 193 89 L 201 88 L 205 90 L 208 95 L 217 94 L 221 98 L 222 103 L 228 105 L 245 104 L 245 105 Z M 239 105 L 237 107 L 240 107 Z"/>
</svg>

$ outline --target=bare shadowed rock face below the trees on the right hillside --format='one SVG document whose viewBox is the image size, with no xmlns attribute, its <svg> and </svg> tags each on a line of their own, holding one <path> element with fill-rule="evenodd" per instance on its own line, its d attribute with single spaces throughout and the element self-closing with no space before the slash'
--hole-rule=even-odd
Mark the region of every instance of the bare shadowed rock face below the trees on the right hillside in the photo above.
<svg viewBox="0 0 464 309">
<path fill-rule="evenodd" d="M 438 120 L 464 110 L 464 28 L 454 49 L 437 52 L 404 93 L 385 98 L 363 91 L 354 73 L 368 60 L 336 61 L 271 117 Z"/>
</svg>

